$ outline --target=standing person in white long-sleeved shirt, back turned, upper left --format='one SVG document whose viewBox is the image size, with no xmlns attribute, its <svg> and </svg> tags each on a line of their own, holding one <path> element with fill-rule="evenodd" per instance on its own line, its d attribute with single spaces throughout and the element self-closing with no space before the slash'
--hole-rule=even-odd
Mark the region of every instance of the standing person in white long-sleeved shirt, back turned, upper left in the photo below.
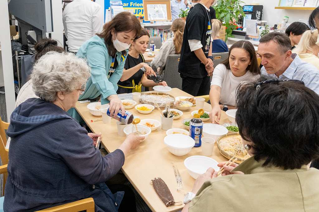
<svg viewBox="0 0 319 212">
<path fill-rule="evenodd" d="M 74 0 L 63 11 L 63 26 L 68 49 L 77 53 L 82 44 L 100 33 L 104 25 L 102 7 L 91 0 Z"/>
</svg>

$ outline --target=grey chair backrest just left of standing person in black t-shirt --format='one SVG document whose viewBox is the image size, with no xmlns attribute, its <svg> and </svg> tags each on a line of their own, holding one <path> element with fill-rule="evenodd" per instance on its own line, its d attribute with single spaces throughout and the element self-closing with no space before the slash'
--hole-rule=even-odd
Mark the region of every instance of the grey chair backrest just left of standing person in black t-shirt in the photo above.
<svg viewBox="0 0 319 212">
<path fill-rule="evenodd" d="M 167 85 L 169 87 L 179 88 L 182 90 L 182 78 L 178 73 L 178 64 L 180 57 L 180 54 L 168 55 L 165 70 L 163 73 L 163 80 L 167 82 Z"/>
</svg>

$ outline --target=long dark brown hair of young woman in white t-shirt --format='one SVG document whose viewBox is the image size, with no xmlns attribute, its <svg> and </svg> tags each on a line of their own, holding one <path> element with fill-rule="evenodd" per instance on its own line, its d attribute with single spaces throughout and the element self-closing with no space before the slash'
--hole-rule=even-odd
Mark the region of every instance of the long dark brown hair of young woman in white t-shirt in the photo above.
<svg viewBox="0 0 319 212">
<path fill-rule="evenodd" d="M 251 61 L 250 65 L 247 66 L 246 70 L 249 70 L 252 74 L 260 74 L 260 68 L 259 68 L 258 63 L 257 63 L 257 56 L 256 56 L 255 48 L 247 40 L 237 41 L 236 43 L 234 43 L 230 47 L 229 53 L 228 53 L 228 58 L 226 60 L 224 60 L 224 62 L 223 62 L 223 64 L 226 66 L 226 68 L 230 69 L 229 57 L 230 57 L 230 54 L 234 48 L 245 49 L 248 52 L 249 57 L 250 57 L 250 61 Z"/>
</svg>

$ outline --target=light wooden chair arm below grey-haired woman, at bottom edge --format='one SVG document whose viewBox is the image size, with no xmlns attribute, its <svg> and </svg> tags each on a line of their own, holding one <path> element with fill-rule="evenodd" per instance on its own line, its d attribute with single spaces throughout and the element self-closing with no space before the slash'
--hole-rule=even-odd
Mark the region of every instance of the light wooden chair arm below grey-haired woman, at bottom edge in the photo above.
<svg viewBox="0 0 319 212">
<path fill-rule="evenodd" d="M 94 200 L 92 197 L 83 200 L 70 202 L 64 205 L 58 205 L 52 208 L 38 210 L 41 212 L 77 212 L 86 210 L 86 212 L 94 212 Z"/>
</svg>

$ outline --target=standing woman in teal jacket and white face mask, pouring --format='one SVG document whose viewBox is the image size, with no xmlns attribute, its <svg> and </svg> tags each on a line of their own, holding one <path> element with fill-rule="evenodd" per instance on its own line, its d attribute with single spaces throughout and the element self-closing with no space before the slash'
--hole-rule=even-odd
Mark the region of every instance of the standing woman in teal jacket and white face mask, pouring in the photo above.
<svg viewBox="0 0 319 212">
<path fill-rule="evenodd" d="M 79 100 L 101 96 L 101 104 L 110 103 L 111 117 L 115 117 L 120 109 L 124 110 L 116 94 L 117 82 L 123 73 L 128 48 L 140 30 L 140 22 L 134 15 L 121 12 L 103 26 L 100 34 L 79 48 L 77 56 L 85 58 L 91 67 L 91 77 Z M 75 110 L 72 116 L 78 119 Z"/>
</svg>

